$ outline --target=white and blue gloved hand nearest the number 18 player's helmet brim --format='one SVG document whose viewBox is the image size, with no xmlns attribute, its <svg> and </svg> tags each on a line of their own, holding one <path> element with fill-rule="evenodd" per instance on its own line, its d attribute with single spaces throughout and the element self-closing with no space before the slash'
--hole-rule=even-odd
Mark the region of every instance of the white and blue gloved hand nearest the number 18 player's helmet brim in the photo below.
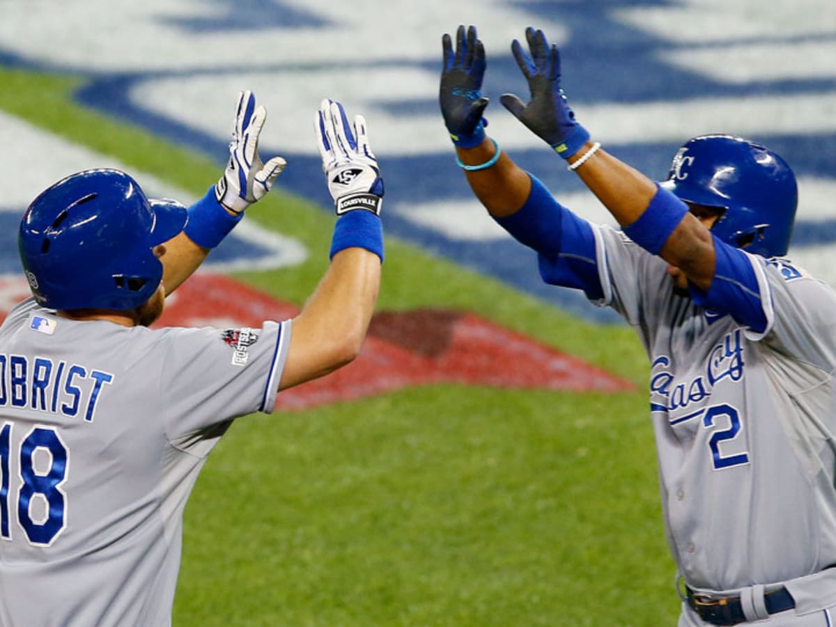
<svg viewBox="0 0 836 627">
<path fill-rule="evenodd" d="M 287 161 L 280 156 L 262 163 L 258 155 L 258 135 L 261 134 L 267 110 L 256 106 L 252 92 L 238 94 L 235 128 L 229 142 L 229 162 L 215 186 L 215 197 L 232 212 L 241 213 L 253 202 L 260 201 L 273 186 Z"/>
</svg>

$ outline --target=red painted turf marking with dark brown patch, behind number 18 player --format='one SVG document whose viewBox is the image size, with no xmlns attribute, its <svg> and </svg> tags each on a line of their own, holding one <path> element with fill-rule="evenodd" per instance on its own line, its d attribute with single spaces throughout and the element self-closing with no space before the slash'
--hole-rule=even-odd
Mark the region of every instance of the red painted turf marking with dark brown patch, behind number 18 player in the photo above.
<svg viewBox="0 0 836 627">
<path fill-rule="evenodd" d="M 22 279 L 0 279 L 0 319 L 28 296 Z M 224 275 L 197 273 L 166 301 L 155 326 L 258 327 L 298 307 Z M 277 408 L 300 410 L 413 385 L 461 383 L 498 388 L 632 390 L 633 385 L 476 314 L 439 309 L 383 312 L 372 319 L 359 357 L 331 375 L 278 395 Z"/>
</svg>

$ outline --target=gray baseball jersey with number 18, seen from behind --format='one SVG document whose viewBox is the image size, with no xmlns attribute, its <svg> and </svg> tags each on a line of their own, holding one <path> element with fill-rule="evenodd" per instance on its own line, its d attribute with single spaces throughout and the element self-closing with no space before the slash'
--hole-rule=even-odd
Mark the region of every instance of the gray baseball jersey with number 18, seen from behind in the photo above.
<svg viewBox="0 0 836 627">
<path fill-rule="evenodd" d="M 233 418 L 273 410 L 291 332 L 0 327 L 0 625 L 167 625 L 182 513 Z"/>
</svg>

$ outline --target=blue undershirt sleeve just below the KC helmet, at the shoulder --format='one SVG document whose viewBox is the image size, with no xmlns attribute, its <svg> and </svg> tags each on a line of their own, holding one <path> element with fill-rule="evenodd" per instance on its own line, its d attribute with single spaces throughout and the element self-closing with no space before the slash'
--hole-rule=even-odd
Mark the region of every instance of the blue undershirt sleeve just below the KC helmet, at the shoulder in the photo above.
<svg viewBox="0 0 836 627">
<path fill-rule="evenodd" d="M 732 318 L 762 333 L 767 328 L 761 288 L 752 261 L 745 252 L 714 237 L 716 265 L 711 287 L 705 292 L 691 285 L 691 298 L 701 307 Z"/>
</svg>

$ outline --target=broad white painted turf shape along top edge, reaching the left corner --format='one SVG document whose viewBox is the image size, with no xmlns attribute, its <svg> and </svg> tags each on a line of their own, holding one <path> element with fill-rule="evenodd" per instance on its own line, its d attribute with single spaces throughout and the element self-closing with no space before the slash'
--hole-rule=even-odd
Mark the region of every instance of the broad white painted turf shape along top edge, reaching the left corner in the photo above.
<svg viewBox="0 0 836 627">
<path fill-rule="evenodd" d="M 489 49 L 507 52 L 508 42 L 522 37 L 530 21 L 530 13 L 505 0 L 283 0 L 282 4 L 318 18 L 325 26 L 268 26 L 280 21 L 283 8 L 267 1 L 265 18 L 259 22 L 253 16 L 251 28 L 242 29 L 232 24 L 224 28 L 227 13 L 243 10 L 233 2 L 3 0 L 0 43 L 26 59 L 84 71 L 337 66 L 415 61 L 429 55 L 441 64 L 441 34 L 455 31 L 460 23 L 490 24 L 482 40 Z M 190 31 L 176 23 L 196 18 L 204 23 L 217 18 L 217 28 Z M 567 36 L 566 28 L 548 16 L 538 20 L 538 26 L 557 43 Z"/>
</svg>

